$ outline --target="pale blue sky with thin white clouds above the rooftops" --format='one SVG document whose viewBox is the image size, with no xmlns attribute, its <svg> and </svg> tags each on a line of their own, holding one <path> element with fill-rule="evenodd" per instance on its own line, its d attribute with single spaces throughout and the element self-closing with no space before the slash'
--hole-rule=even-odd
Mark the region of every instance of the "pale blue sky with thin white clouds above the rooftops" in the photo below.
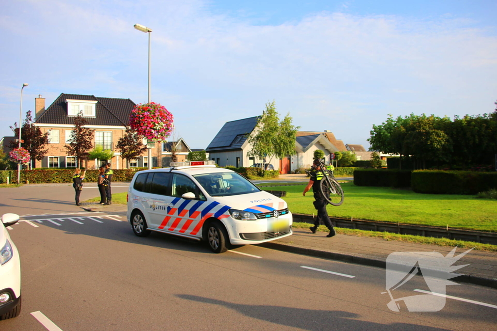
<svg viewBox="0 0 497 331">
<path fill-rule="evenodd" d="M 16 0 L 0 2 L 0 136 L 41 94 L 147 102 L 206 148 L 272 100 L 303 131 L 363 144 L 388 114 L 493 112 L 497 1 Z"/>
</svg>

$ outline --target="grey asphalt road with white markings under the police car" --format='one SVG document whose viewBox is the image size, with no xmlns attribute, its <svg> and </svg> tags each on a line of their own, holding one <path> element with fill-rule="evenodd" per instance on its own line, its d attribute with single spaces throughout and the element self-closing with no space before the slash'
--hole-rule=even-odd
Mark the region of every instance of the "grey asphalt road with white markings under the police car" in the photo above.
<svg viewBox="0 0 497 331">
<path fill-rule="evenodd" d="M 83 199 L 98 195 L 92 190 Z M 381 294 L 385 269 L 258 246 L 213 254 L 159 233 L 139 238 L 122 215 L 78 213 L 72 192 L 0 189 L 0 213 L 32 215 L 9 229 L 23 307 L 0 330 L 496 330 L 493 289 L 464 284 L 447 294 L 495 307 L 447 299 L 439 312 L 396 313 Z M 422 277 L 395 295 L 414 289 L 427 289 Z"/>
</svg>

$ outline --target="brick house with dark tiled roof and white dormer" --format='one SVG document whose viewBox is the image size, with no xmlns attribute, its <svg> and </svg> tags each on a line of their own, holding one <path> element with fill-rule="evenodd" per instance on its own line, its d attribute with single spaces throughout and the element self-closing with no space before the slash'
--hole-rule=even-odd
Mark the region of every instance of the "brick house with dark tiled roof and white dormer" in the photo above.
<svg viewBox="0 0 497 331">
<path fill-rule="evenodd" d="M 55 101 L 45 109 L 45 98 L 41 95 L 35 98 L 35 121 L 34 125 L 39 127 L 43 133 L 48 132 L 50 143 L 48 152 L 41 161 L 36 161 L 36 167 L 58 168 L 75 167 L 76 157 L 67 155 L 64 145 L 71 137 L 74 128 L 74 118 L 78 113 L 83 112 L 83 117 L 87 121 L 85 127 L 94 130 L 94 146 L 100 145 L 104 149 L 110 149 L 114 155 L 110 160 L 113 169 L 147 167 L 148 152 L 130 164 L 120 157 L 120 153 L 115 150 L 119 138 L 121 138 L 129 123 L 129 116 L 136 104 L 130 99 L 103 98 L 93 95 L 65 94 L 61 93 Z M 185 154 L 188 154 L 189 147 L 182 139 L 181 153 L 178 153 L 177 160 L 184 161 Z M 152 148 L 152 166 L 163 166 L 163 157 L 170 157 L 170 152 L 165 147 L 166 143 L 156 143 Z M 186 146 L 186 147 L 184 147 Z M 185 149 L 185 150 L 183 150 Z M 185 153 L 186 152 L 186 153 Z M 102 162 L 104 160 L 100 160 Z M 84 164 L 88 169 L 95 169 L 99 166 L 97 160 L 87 160 Z"/>
</svg>

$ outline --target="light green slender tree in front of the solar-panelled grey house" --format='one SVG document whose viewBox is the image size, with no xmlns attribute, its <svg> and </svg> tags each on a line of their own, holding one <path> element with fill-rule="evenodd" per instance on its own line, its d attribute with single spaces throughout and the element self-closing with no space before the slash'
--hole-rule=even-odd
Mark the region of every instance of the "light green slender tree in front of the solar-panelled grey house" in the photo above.
<svg viewBox="0 0 497 331">
<path fill-rule="evenodd" d="M 280 159 L 287 154 L 295 154 L 295 133 L 298 129 L 292 124 L 290 114 L 280 121 L 274 100 L 267 103 L 254 134 L 247 135 L 247 141 L 252 146 L 247 155 L 258 159 L 268 157 L 267 162 L 271 163 L 275 156 Z"/>
</svg>

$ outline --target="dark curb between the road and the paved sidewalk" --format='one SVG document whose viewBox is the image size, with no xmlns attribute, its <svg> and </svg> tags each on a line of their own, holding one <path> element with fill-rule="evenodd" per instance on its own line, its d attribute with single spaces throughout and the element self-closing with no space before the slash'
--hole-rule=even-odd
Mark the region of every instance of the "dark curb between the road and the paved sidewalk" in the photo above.
<svg viewBox="0 0 497 331">
<path fill-rule="evenodd" d="M 337 260 L 337 261 L 355 263 L 358 265 L 377 266 L 377 267 L 380 267 L 383 269 L 386 268 L 386 261 L 384 259 L 370 257 L 370 256 L 364 256 L 364 255 L 359 255 L 359 254 L 347 254 L 347 253 L 340 253 L 340 252 L 321 251 L 321 250 L 317 250 L 314 248 L 295 246 L 295 245 L 289 245 L 289 244 L 283 244 L 283 243 L 277 243 L 277 242 L 268 242 L 268 243 L 259 244 L 257 246 L 261 246 L 261 247 L 265 247 L 265 248 L 269 248 L 269 249 L 274 249 L 274 250 L 282 251 L 282 252 L 308 255 L 308 256 L 312 256 L 312 257 L 316 257 L 316 258 Z M 464 282 L 464 283 L 486 286 L 486 287 L 491 287 L 491 288 L 497 289 L 497 279 L 496 278 L 484 277 L 481 275 L 462 273 L 460 276 L 452 278 L 451 280 L 456 281 L 456 282 Z"/>
</svg>

